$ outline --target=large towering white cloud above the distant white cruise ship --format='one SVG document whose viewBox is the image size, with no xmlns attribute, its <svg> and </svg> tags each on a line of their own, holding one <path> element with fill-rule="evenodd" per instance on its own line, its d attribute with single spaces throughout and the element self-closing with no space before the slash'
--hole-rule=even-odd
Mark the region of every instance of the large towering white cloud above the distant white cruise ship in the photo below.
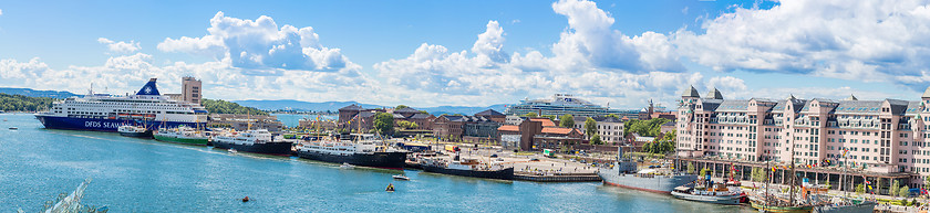
<svg viewBox="0 0 930 213">
<path fill-rule="evenodd" d="M 681 85 L 700 84 L 703 77 L 684 73 L 669 36 L 647 32 L 630 38 L 611 30 L 614 19 L 595 2 L 564 0 L 552 3 L 552 10 L 568 19 L 568 28 L 551 45 L 550 56 L 506 52 L 504 29 L 488 21 L 471 52 L 423 43 L 406 58 L 374 64 L 374 70 L 396 87 L 393 96 L 400 102 L 426 105 L 572 93 L 599 104 L 638 106 L 649 97 L 672 99 Z"/>
</svg>

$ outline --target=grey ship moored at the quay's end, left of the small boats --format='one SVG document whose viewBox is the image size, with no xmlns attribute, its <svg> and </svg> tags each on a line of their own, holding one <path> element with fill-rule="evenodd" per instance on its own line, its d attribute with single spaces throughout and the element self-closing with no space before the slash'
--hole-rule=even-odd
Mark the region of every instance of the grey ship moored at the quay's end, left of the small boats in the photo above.
<svg viewBox="0 0 930 213">
<path fill-rule="evenodd" d="M 640 171 L 633 159 L 623 157 L 623 147 L 619 147 L 617 152 L 613 168 L 598 170 L 598 177 L 607 185 L 669 194 L 675 187 L 698 180 L 698 175 L 694 174 L 659 172 L 651 169 Z"/>
</svg>

